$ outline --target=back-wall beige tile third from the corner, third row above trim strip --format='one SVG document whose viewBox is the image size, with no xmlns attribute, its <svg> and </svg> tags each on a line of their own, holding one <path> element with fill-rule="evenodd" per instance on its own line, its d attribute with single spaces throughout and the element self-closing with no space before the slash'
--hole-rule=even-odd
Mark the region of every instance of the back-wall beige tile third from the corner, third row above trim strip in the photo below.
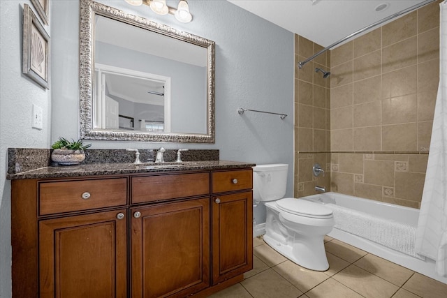
<svg viewBox="0 0 447 298">
<path fill-rule="evenodd" d="M 409 66 L 382 75 L 382 98 L 416 93 L 416 66 Z M 422 79 L 421 79 L 422 80 Z"/>
</svg>

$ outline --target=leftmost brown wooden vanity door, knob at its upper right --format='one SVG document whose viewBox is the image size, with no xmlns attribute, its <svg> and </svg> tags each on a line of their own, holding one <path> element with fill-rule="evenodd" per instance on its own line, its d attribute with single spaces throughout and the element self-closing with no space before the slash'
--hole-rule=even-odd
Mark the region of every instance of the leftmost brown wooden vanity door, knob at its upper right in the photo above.
<svg viewBox="0 0 447 298">
<path fill-rule="evenodd" d="M 126 209 L 39 223 L 40 297 L 126 297 Z"/>
</svg>

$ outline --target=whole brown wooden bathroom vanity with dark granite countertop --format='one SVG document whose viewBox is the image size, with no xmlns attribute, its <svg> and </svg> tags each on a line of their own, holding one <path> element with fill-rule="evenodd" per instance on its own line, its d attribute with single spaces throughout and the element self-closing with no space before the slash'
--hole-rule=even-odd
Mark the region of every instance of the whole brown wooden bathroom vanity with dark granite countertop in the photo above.
<svg viewBox="0 0 447 298">
<path fill-rule="evenodd" d="M 13 297 L 206 297 L 253 267 L 249 163 L 11 175 Z"/>
</svg>

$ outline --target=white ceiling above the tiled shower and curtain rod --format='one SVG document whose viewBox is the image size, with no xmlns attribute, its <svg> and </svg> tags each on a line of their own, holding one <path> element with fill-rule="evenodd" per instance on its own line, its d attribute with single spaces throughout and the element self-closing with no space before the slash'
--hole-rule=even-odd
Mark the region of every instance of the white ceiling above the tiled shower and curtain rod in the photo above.
<svg viewBox="0 0 447 298">
<path fill-rule="evenodd" d="M 228 0 L 279 27 L 328 47 L 425 0 Z M 375 8 L 388 3 L 385 10 Z"/>
</svg>

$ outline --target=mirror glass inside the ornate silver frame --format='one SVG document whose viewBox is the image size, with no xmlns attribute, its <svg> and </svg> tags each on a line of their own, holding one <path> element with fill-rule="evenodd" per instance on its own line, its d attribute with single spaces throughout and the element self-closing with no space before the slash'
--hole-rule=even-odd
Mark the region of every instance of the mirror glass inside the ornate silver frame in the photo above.
<svg viewBox="0 0 447 298">
<path fill-rule="evenodd" d="M 207 49 L 95 17 L 94 128 L 207 132 Z"/>
</svg>

